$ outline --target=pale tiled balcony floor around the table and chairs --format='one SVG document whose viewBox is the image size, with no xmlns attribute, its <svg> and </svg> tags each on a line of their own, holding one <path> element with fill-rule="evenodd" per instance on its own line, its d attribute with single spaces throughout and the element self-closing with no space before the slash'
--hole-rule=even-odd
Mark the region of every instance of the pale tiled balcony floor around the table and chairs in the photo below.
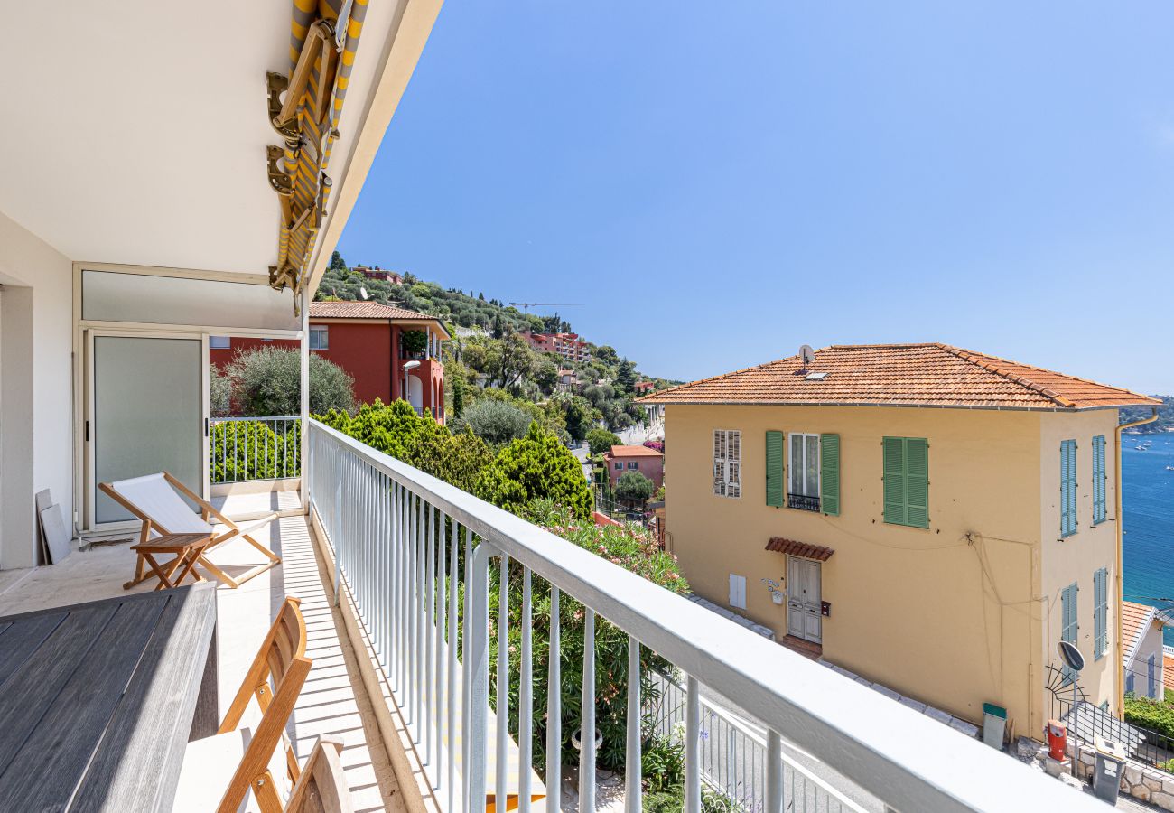
<svg viewBox="0 0 1174 813">
<path fill-rule="evenodd" d="M 319 578 L 305 518 L 279 519 L 270 525 L 268 533 L 263 530 L 256 538 L 277 552 L 282 564 L 236 590 L 224 586 L 217 590 L 221 715 L 239 687 L 277 609 L 286 596 L 297 596 L 306 621 L 306 656 L 313 659 L 289 728 L 298 757 L 309 755 L 319 734 L 340 737 L 355 809 L 402 808 L 402 804 L 392 806 L 392 799 L 398 801 L 399 795 L 396 781 L 355 672 L 353 652 L 345 637 L 339 639 L 335 626 L 333 609 Z M 241 540 L 222 546 L 211 559 L 229 572 L 262 560 Z M 59 565 L 0 571 L 0 616 L 120 596 L 124 592 L 122 583 L 134 573 L 134 553 L 120 544 L 74 552 Z M 153 587 L 143 583 L 134 592 Z"/>
</svg>

